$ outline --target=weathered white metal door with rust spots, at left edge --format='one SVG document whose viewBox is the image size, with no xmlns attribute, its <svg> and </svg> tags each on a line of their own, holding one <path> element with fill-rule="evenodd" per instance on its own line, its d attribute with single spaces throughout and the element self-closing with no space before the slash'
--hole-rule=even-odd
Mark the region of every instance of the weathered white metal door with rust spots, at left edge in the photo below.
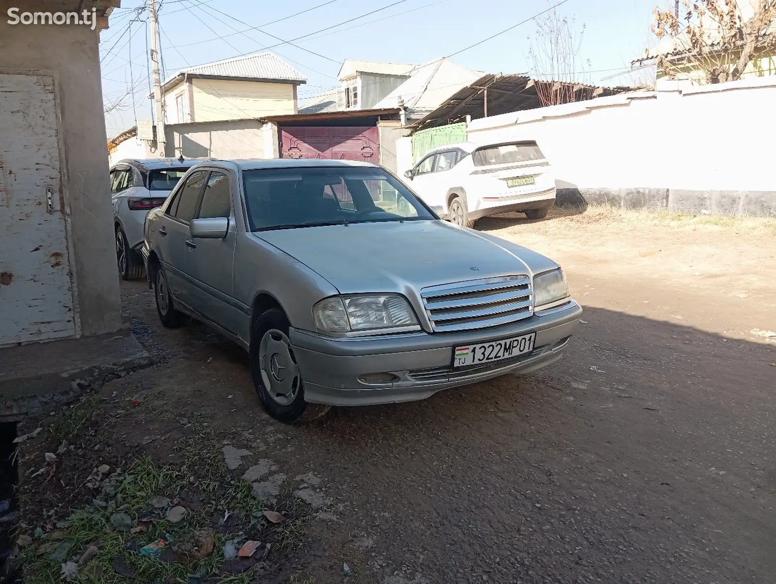
<svg viewBox="0 0 776 584">
<path fill-rule="evenodd" d="M 0 347 L 76 333 L 57 130 L 54 79 L 0 74 Z"/>
</svg>

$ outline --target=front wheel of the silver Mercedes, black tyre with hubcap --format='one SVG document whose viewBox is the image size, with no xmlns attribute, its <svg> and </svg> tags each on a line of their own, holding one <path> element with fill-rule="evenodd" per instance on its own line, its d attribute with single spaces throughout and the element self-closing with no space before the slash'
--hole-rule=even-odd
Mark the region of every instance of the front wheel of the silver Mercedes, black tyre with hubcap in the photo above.
<svg viewBox="0 0 776 584">
<path fill-rule="evenodd" d="M 267 413 L 281 422 L 309 421 L 330 406 L 307 403 L 299 365 L 289 340 L 289 321 L 281 310 L 267 310 L 251 330 L 251 376 Z"/>
</svg>

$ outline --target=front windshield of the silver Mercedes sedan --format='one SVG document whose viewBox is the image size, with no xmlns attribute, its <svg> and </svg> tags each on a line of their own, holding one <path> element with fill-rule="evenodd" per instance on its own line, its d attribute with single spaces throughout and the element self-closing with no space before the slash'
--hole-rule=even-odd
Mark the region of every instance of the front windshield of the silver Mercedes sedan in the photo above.
<svg viewBox="0 0 776 584">
<path fill-rule="evenodd" d="M 244 171 L 251 230 L 437 219 L 381 168 L 318 167 Z"/>
</svg>

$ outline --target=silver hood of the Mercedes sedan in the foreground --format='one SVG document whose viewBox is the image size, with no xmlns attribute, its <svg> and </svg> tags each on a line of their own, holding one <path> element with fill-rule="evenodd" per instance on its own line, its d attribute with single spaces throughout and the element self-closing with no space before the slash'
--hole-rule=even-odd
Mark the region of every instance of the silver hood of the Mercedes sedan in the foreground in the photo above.
<svg viewBox="0 0 776 584">
<path fill-rule="evenodd" d="M 400 292 L 556 268 L 540 254 L 445 221 L 351 223 L 255 233 L 341 294 Z"/>
</svg>

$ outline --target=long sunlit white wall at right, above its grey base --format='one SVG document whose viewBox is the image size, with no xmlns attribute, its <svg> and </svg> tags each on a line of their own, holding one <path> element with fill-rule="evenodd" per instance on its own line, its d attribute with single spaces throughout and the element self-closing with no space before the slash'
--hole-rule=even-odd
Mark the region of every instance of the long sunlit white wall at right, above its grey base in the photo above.
<svg viewBox="0 0 776 584">
<path fill-rule="evenodd" d="M 776 78 L 759 78 L 503 114 L 468 132 L 475 143 L 536 140 L 559 188 L 665 189 L 708 202 L 718 192 L 770 192 L 776 213 L 774 104 Z"/>
</svg>

